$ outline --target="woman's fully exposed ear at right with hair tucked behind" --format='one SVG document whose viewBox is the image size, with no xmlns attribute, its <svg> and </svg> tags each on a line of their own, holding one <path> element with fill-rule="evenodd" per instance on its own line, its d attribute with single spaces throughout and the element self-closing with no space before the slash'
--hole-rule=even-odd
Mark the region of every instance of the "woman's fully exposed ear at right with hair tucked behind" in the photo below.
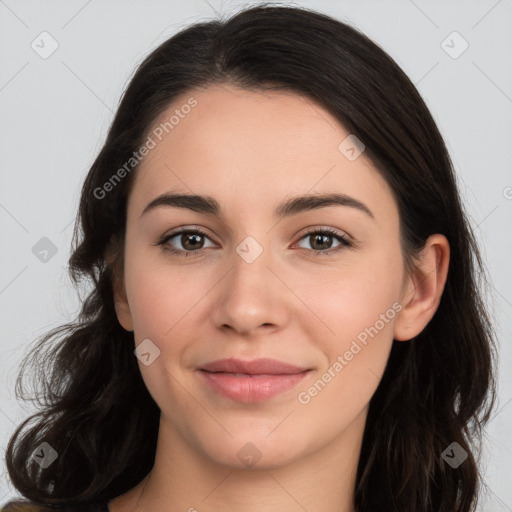
<svg viewBox="0 0 512 512">
<path fill-rule="evenodd" d="M 407 341 L 417 336 L 434 316 L 443 294 L 450 244 L 444 235 L 431 235 L 419 254 L 416 268 L 407 276 L 402 310 L 394 325 L 394 338 Z"/>
</svg>

